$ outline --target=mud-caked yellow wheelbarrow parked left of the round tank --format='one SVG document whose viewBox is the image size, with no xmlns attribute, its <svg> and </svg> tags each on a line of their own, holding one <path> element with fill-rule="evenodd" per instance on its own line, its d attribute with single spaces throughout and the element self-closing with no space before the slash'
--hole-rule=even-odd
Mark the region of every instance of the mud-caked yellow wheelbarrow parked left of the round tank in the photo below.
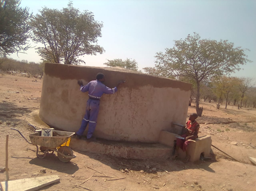
<svg viewBox="0 0 256 191">
<path fill-rule="evenodd" d="M 34 127 L 34 125 L 31 126 Z M 31 141 L 29 142 L 19 130 L 15 128 L 11 129 L 18 131 L 25 141 L 37 147 L 38 158 L 45 158 L 47 153 L 51 152 L 53 154 L 54 151 L 57 152 L 59 160 L 64 163 L 69 162 L 72 158 L 76 158 L 73 150 L 68 147 L 71 136 L 75 134 L 74 132 L 52 130 L 53 136 L 41 136 L 42 130 L 36 130 L 34 127 L 36 132 L 28 135 Z M 38 145 L 40 146 L 40 150 L 45 152 L 43 155 L 38 154 Z"/>
</svg>

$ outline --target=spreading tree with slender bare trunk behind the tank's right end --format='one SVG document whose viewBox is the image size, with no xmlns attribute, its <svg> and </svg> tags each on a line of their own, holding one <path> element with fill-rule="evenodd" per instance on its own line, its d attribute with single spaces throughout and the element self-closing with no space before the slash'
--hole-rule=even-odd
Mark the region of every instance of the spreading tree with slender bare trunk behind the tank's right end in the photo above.
<svg viewBox="0 0 256 191">
<path fill-rule="evenodd" d="M 166 75 L 189 77 L 196 81 L 196 112 L 201 116 L 199 98 L 202 80 L 239 70 L 239 65 L 249 60 L 244 49 L 234 47 L 227 40 L 201 39 L 199 34 L 194 33 L 174 42 L 174 47 L 166 48 L 165 53 L 156 53 L 156 67 Z"/>
</svg>

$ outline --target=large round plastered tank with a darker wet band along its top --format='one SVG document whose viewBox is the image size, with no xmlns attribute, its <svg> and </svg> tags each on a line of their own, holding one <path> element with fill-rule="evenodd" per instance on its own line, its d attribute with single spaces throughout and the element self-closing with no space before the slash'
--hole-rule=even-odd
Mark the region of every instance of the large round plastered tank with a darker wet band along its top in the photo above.
<svg viewBox="0 0 256 191">
<path fill-rule="evenodd" d="M 179 133 L 179 129 L 171 129 L 171 122 L 185 123 L 191 84 L 110 67 L 46 63 L 40 118 L 48 125 L 76 132 L 88 100 L 88 92 L 80 91 L 77 80 L 86 84 L 98 72 L 104 73 L 110 88 L 119 80 L 126 83 L 115 94 L 103 94 L 94 136 L 158 142 L 161 130 Z"/>
</svg>

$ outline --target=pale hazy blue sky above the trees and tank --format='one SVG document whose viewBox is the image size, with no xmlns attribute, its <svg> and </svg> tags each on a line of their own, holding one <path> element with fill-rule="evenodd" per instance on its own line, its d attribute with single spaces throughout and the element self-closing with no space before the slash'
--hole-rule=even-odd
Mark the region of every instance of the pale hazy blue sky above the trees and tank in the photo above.
<svg viewBox="0 0 256 191">
<path fill-rule="evenodd" d="M 157 52 L 196 32 L 202 39 L 228 40 L 250 49 L 246 54 L 253 62 L 241 66 L 243 70 L 233 76 L 256 76 L 256 0 L 73 0 L 73 4 L 103 22 L 98 44 L 105 53 L 85 55 L 82 59 L 87 66 L 104 66 L 106 59 L 132 58 L 139 69 L 154 67 Z M 43 6 L 62 9 L 67 5 L 68 0 L 21 1 L 33 14 Z M 40 61 L 34 49 L 26 53 L 11 58 Z"/>
</svg>

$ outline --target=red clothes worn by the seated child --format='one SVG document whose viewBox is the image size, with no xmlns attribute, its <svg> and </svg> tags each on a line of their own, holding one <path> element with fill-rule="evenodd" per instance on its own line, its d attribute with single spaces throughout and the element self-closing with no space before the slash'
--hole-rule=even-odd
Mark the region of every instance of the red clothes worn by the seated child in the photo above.
<svg viewBox="0 0 256 191">
<path fill-rule="evenodd" d="M 190 120 L 188 120 L 188 122 L 186 123 L 187 125 L 187 129 L 188 132 L 185 133 L 184 135 L 182 135 L 182 137 L 186 138 L 188 136 L 192 136 L 194 135 L 195 131 L 196 131 L 196 127 L 198 127 L 199 130 L 199 123 L 194 121 L 193 123 L 191 123 Z M 188 145 L 190 144 L 191 141 L 185 140 L 185 139 L 181 139 L 181 138 L 177 138 L 176 144 L 177 146 L 179 146 L 179 148 L 182 149 L 183 152 L 185 152 L 188 148 Z"/>
</svg>

